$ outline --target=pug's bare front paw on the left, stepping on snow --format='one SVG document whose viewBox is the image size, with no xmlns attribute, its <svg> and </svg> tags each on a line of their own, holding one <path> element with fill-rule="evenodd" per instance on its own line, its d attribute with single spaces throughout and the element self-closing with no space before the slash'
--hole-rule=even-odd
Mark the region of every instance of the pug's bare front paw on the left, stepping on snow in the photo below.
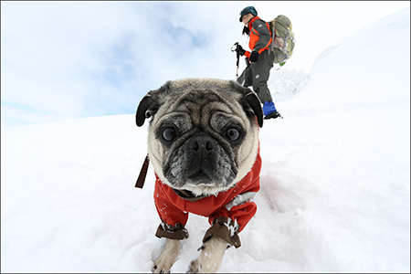
<svg viewBox="0 0 411 274">
<path fill-rule="evenodd" d="M 153 273 L 170 273 L 179 252 L 180 241 L 167 238 L 162 255 L 154 262 Z"/>
</svg>

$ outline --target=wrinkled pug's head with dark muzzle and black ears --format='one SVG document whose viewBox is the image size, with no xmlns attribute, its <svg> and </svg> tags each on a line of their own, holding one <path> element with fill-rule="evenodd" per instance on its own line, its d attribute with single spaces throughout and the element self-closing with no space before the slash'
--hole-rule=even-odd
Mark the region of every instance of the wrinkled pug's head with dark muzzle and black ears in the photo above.
<svg viewBox="0 0 411 274">
<path fill-rule="evenodd" d="M 237 184 L 256 160 L 261 104 L 234 81 L 169 81 L 140 102 L 137 125 L 149 117 L 150 161 L 163 184 L 176 190 L 216 195 Z"/>
</svg>

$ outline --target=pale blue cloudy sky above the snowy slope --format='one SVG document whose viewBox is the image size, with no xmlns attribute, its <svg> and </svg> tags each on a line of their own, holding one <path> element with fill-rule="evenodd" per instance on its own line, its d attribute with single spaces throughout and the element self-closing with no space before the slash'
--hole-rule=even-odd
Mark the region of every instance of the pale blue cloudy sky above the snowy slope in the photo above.
<svg viewBox="0 0 411 274">
<path fill-rule="evenodd" d="M 130 114 L 170 79 L 236 78 L 239 12 L 282 14 L 310 73 L 327 47 L 408 1 L 2 1 L 1 126 Z M 245 62 L 240 60 L 240 72 Z M 274 90 L 272 91 L 274 92 Z"/>
</svg>

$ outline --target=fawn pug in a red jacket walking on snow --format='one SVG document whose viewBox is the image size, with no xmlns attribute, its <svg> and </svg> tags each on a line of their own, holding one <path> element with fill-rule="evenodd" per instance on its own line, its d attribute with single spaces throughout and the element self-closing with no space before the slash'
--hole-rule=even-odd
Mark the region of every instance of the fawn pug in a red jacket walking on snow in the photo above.
<svg viewBox="0 0 411 274">
<path fill-rule="evenodd" d="M 257 211 L 261 158 L 261 102 L 233 80 L 179 79 L 140 101 L 136 124 L 148 127 L 148 158 L 155 173 L 154 203 L 165 246 L 153 272 L 170 272 L 188 237 L 189 213 L 208 217 L 198 258 L 189 272 L 216 272 L 227 248 Z"/>
</svg>

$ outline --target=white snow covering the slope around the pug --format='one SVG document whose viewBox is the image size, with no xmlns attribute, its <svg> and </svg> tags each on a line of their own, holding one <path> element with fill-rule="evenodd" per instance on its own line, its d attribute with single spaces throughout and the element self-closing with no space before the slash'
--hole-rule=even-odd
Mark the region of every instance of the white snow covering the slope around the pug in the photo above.
<svg viewBox="0 0 411 274">
<path fill-rule="evenodd" d="M 260 130 L 258 212 L 220 272 L 410 271 L 409 41 L 406 8 L 309 76 L 272 70 L 284 119 Z M 164 239 L 152 166 L 134 188 L 146 129 L 133 114 L 2 129 L 1 271 L 150 272 Z M 172 272 L 198 256 L 207 219 L 186 228 Z"/>
</svg>

